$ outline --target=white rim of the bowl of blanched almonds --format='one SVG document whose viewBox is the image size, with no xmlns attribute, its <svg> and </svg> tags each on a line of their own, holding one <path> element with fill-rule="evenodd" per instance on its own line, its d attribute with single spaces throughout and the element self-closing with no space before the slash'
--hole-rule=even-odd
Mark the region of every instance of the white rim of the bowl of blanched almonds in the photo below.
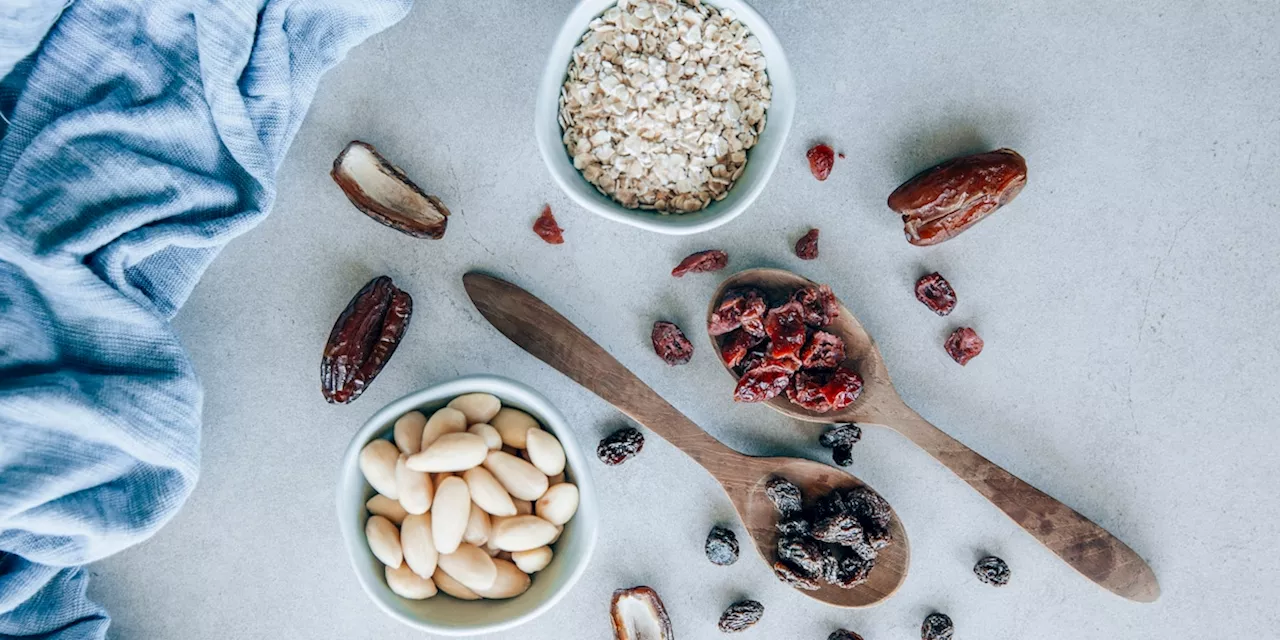
<svg viewBox="0 0 1280 640">
<path fill-rule="evenodd" d="M 351 474 L 360 474 L 361 449 L 364 449 L 367 443 L 372 442 L 374 438 L 378 438 L 380 434 L 390 430 L 399 416 L 424 404 L 456 398 L 465 393 L 492 393 L 504 403 L 511 399 L 515 403 L 521 404 L 521 408 L 532 415 L 539 422 L 548 426 L 549 430 L 561 440 L 564 445 L 564 456 L 568 462 L 567 468 L 572 470 L 575 483 L 579 488 L 579 511 L 575 513 L 573 518 L 575 521 L 579 517 L 584 518 L 584 521 L 581 521 L 585 525 L 581 531 L 584 535 L 584 547 L 582 553 L 576 561 L 576 566 L 567 572 L 564 582 L 558 589 L 552 591 L 545 600 L 529 612 L 513 618 L 495 622 L 466 627 L 447 627 L 435 625 L 431 621 L 422 618 L 406 616 L 389 607 L 385 602 L 383 602 L 383 598 L 379 596 L 380 593 L 387 593 L 393 596 L 396 595 L 390 593 L 390 589 L 385 584 L 378 580 L 371 582 L 357 564 L 357 557 L 367 549 L 367 545 L 364 540 L 362 531 L 357 531 L 361 527 L 358 526 L 358 516 L 353 516 L 353 513 L 358 512 L 358 509 L 352 509 L 351 503 L 353 499 L 344 493 L 344 485 Z M 361 480 L 364 481 L 362 477 Z M 356 498 L 355 502 L 358 502 L 361 506 L 364 504 L 364 500 L 360 498 Z M 582 577 L 582 573 L 586 572 L 586 567 L 595 552 L 596 536 L 599 532 L 599 527 L 595 521 L 598 518 L 595 485 L 591 480 L 586 456 L 577 445 L 576 436 L 570 429 L 568 421 L 549 399 L 534 390 L 531 387 L 509 378 L 490 374 L 465 375 L 439 384 L 433 384 L 404 394 L 374 412 L 374 415 L 371 415 L 369 420 L 361 425 L 355 435 L 352 435 L 351 442 L 347 444 L 347 451 L 343 454 L 342 465 L 338 472 L 338 490 L 334 503 L 337 507 L 338 526 L 343 538 L 343 547 L 347 550 L 347 559 L 351 563 L 352 571 L 356 573 L 356 581 L 360 582 L 361 589 L 366 595 L 369 595 L 369 599 L 392 618 L 421 631 L 443 636 L 470 636 L 507 631 L 541 616 L 559 603 L 559 600 L 573 588 L 573 585 L 577 584 L 579 579 Z"/>
</svg>

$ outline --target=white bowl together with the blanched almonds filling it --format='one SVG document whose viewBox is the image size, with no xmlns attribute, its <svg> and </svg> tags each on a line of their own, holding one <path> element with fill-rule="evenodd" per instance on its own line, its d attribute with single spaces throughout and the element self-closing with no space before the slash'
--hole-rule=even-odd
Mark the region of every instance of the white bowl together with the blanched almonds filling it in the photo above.
<svg viewBox="0 0 1280 640">
<path fill-rule="evenodd" d="M 392 617 L 438 635 L 503 631 L 554 605 L 586 570 L 596 508 L 559 411 L 489 375 L 374 413 L 338 481 L 360 585 Z"/>
</svg>

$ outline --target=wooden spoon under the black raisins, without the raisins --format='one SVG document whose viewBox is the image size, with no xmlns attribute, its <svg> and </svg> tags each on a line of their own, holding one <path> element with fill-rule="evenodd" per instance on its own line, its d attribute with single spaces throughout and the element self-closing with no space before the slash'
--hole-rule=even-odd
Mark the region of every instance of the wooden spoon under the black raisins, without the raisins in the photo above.
<svg viewBox="0 0 1280 640">
<path fill-rule="evenodd" d="M 477 273 L 462 276 L 462 284 L 480 314 L 503 335 L 666 438 L 719 480 L 755 549 L 771 566 L 777 559 L 778 531 L 774 527 L 777 513 L 764 494 L 769 479 L 781 476 L 790 480 L 808 499 L 835 488 L 867 486 L 861 480 L 820 462 L 739 453 L 703 431 L 564 316 L 529 292 Z M 676 489 L 667 484 L 662 486 Z M 826 585 L 815 591 L 800 593 L 836 607 L 869 607 L 892 595 L 906 579 L 910 558 L 910 544 L 897 513 L 892 515 L 890 532 L 893 544 L 879 552 L 867 582 L 854 589 Z"/>
</svg>

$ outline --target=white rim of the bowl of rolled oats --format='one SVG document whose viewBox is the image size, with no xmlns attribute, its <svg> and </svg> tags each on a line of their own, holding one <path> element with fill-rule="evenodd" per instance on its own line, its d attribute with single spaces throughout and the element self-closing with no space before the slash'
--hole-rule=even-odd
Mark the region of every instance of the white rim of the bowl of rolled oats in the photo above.
<svg viewBox="0 0 1280 640">
<path fill-rule="evenodd" d="M 781 116 L 774 118 L 774 106 L 769 106 L 765 110 L 768 116 L 767 129 L 773 128 L 778 136 L 777 151 L 759 159 L 750 159 L 749 161 L 762 163 L 759 173 L 754 182 L 750 184 L 742 184 L 746 192 L 742 195 L 741 200 L 731 209 L 724 209 L 717 212 L 714 216 L 709 216 L 700 223 L 694 224 L 672 224 L 680 220 L 681 216 L 662 216 L 662 215 L 634 215 L 635 210 L 626 209 L 617 202 L 609 202 L 608 205 L 598 202 L 595 200 L 589 200 L 581 197 L 577 189 L 568 183 L 568 179 L 556 169 L 557 164 L 568 161 L 568 154 L 564 151 L 564 145 L 561 143 L 558 137 L 552 138 L 545 133 L 544 127 L 540 124 L 548 119 L 556 120 L 558 125 L 559 116 L 559 88 L 564 83 L 564 73 L 567 67 L 566 59 L 572 56 L 573 47 L 577 46 L 577 41 L 581 40 L 585 31 L 585 26 L 600 12 L 589 9 L 589 6 L 599 3 L 600 0 L 579 0 L 579 3 L 570 10 L 570 14 L 564 18 L 564 23 L 561 29 L 556 33 L 556 40 L 552 44 L 550 51 L 547 55 L 547 61 L 543 65 L 543 76 L 538 83 L 538 91 L 535 95 L 534 106 L 534 136 L 538 141 L 539 155 L 543 156 L 543 163 L 547 165 L 548 172 L 552 174 L 552 180 L 556 186 L 563 191 L 570 200 L 576 202 L 579 206 L 591 211 L 602 218 L 614 220 L 618 223 L 628 224 L 640 229 L 646 229 L 655 233 L 662 233 L 667 236 L 692 236 L 695 233 L 701 233 L 705 230 L 714 229 L 735 218 L 742 215 L 754 202 L 755 198 L 764 191 L 764 187 L 769 183 L 773 177 L 774 169 L 777 169 L 778 163 L 782 160 L 782 154 L 785 152 L 787 136 L 791 133 L 791 120 L 795 116 L 795 77 L 791 74 L 791 65 L 787 61 L 786 50 L 782 47 L 782 41 L 778 40 L 777 33 L 773 27 L 759 14 L 750 4 L 745 0 L 703 0 L 705 4 L 716 6 L 717 9 L 728 9 L 733 12 L 737 19 L 746 17 L 748 27 L 762 42 L 768 42 L 776 54 L 767 55 L 765 60 L 768 63 L 769 84 L 773 88 L 772 105 L 777 105 L 780 101 L 787 104 L 787 109 L 781 109 Z M 616 3 L 614 3 L 616 4 Z M 605 5 L 608 9 L 611 5 Z M 584 22 L 585 18 L 585 22 Z M 577 26 L 581 24 L 582 28 Z M 566 55 L 561 55 L 561 54 Z M 774 73 L 782 79 L 782 86 L 774 79 Z M 572 164 L 570 164 L 572 168 Z M 579 173 L 577 169 L 573 169 Z M 581 174 L 579 173 L 579 177 Z M 584 178 L 585 180 L 585 178 Z M 730 188 L 732 192 L 741 183 L 736 183 Z M 692 214 L 690 214 L 692 215 Z"/>
</svg>

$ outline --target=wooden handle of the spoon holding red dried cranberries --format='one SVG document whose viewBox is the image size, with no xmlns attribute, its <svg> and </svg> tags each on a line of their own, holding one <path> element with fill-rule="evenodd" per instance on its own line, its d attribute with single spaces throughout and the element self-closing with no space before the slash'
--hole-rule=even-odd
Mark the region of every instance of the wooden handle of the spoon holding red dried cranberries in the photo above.
<svg viewBox="0 0 1280 640">
<path fill-rule="evenodd" d="M 1142 557 L 1089 518 L 979 456 L 910 408 L 883 421 L 1089 580 L 1130 600 L 1160 598 L 1156 573 Z"/>
</svg>

